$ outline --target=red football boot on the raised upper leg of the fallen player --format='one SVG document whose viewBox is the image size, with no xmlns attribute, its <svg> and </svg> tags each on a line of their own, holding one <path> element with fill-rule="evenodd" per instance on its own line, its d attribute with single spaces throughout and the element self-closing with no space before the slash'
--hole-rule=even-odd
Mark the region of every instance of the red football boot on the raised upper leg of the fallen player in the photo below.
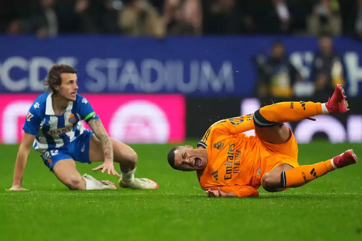
<svg viewBox="0 0 362 241">
<path fill-rule="evenodd" d="M 328 102 L 325 103 L 325 107 L 329 113 L 345 113 L 349 111 L 346 98 L 343 86 L 338 84 L 334 88 L 332 98 L 329 98 Z"/>
</svg>

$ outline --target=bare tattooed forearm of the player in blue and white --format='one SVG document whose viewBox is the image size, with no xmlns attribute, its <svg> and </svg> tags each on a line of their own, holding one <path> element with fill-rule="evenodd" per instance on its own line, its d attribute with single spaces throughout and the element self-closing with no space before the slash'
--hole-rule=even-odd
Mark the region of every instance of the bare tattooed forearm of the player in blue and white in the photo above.
<svg viewBox="0 0 362 241">
<path fill-rule="evenodd" d="M 104 159 L 111 160 L 113 162 L 113 147 L 112 147 L 112 140 L 109 137 L 106 129 L 104 128 L 100 119 L 92 119 L 88 121 L 88 125 L 90 129 L 93 130 L 94 135 L 100 140 Z"/>
</svg>

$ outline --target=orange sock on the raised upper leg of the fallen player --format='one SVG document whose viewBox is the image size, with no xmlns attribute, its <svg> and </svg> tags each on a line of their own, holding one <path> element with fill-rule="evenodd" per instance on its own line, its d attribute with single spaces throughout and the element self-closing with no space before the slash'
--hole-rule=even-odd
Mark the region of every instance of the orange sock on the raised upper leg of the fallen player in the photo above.
<svg viewBox="0 0 362 241">
<path fill-rule="evenodd" d="M 271 126 L 275 122 L 298 121 L 307 117 L 327 114 L 325 104 L 314 102 L 281 102 L 264 106 L 254 113 L 257 126 Z"/>
</svg>

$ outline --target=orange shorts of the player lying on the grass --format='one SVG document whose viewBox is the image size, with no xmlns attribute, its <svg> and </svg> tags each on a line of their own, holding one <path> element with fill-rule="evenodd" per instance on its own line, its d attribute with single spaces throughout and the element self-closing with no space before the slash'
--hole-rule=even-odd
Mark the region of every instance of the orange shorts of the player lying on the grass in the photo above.
<svg viewBox="0 0 362 241">
<path fill-rule="evenodd" d="M 261 157 L 261 177 L 264 176 L 265 173 L 284 163 L 289 164 L 292 167 L 299 166 L 298 144 L 292 132 L 289 141 L 281 145 L 271 144 L 262 141 L 261 139 L 259 139 L 259 141 Z"/>
</svg>

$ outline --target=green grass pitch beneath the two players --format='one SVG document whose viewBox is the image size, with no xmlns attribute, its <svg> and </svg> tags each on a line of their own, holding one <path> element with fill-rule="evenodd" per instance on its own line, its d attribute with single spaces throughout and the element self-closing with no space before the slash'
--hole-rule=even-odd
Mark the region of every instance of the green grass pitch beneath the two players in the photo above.
<svg viewBox="0 0 362 241">
<path fill-rule="evenodd" d="M 194 142 L 189 142 L 194 145 Z M 1 240 L 362 240 L 362 164 L 329 173 L 307 185 L 258 198 L 207 198 L 195 173 L 171 169 L 170 145 L 132 145 L 138 177 L 158 190 L 69 191 L 32 151 L 24 188 L 8 192 L 17 146 L 0 146 Z M 299 163 L 327 160 L 362 145 L 299 145 Z M 77 164 L 81 174 L 108 177 Z"/>
</svg>

